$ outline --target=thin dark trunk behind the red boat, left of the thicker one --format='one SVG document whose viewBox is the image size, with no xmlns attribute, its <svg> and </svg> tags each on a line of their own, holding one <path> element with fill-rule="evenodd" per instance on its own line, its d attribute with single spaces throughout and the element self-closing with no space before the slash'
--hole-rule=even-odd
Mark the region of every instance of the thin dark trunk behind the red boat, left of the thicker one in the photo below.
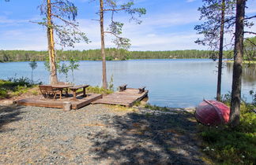
<svg viewBox="0 0 256 165">
<path fill-rule="evenodd" d="M 221 4 L 221 25 L 220 25 L 220 48 L 219 48 L 219 65 L 218 65 L 218 82 L 216 100 L 220 101 L 221 74 L 222 74 L 222 57 L 223 57 L 223 39 L 224 39 L 224 19 L 225 19 L 225 0 Z"/>
</svg>

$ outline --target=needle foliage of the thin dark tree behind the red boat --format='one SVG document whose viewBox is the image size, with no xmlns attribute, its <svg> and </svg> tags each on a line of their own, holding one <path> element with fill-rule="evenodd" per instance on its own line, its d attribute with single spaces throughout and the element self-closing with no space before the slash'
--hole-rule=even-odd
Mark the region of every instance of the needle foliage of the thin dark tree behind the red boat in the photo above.
<svg viewBox="0 0 256 165">
<path fill-rule="evenodd" d="M 198 11 L 201 13 L 200 20 L 205 21 L 203 24 L 196 25 L 194 30 L 198 31 L 199 35 L 204 35 L 204 38 L 198 38 L 196 43 L 219 50 L 221 13 L 224 7 L 224 34 L 232 34 L 235 1 L 227 0 L 224 6 L 222 0 L 202 0 L 202 2 L 203 6 L 198 8 Z"/>
</svg>

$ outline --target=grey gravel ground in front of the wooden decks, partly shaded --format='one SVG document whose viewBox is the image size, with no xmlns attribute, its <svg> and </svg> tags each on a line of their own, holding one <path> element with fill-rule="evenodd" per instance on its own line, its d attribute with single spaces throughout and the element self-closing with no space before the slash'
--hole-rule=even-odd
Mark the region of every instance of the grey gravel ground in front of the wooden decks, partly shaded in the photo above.
<svg viewBox="0 0 256 165">
<path fill-rule="evenodd" d="M 0 106 L 0 164 L 203 164 L 187 112 Z"/>
</svg>

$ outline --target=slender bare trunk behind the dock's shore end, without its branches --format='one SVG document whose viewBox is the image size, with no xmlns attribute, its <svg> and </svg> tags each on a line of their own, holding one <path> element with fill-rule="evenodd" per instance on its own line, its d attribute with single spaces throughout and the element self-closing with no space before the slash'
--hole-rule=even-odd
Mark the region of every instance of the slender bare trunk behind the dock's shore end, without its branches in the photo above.
<svg viewBox="0 0 256 165">
<path fill-rule="evenodd" d="M 107 89 L 106 55 L 104 40 L 104 0 L 100 0 L 100 38 L 101 38 L 101 56 L 102 56 L 102 86 Z"/>
</svg>

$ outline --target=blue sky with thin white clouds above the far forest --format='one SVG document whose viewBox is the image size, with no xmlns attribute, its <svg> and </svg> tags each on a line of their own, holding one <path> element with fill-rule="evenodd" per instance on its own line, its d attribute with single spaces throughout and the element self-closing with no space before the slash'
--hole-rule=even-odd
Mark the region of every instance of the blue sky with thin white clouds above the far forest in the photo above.
<svg viewBox="0 0 256 165">
<path fill-rule="evenodd" d="M 71 0 L 72 1 L 72 0 Z M 40 21 L 37 6 L 42 0 L 0 0 L 0 49 L 47 50 L 46 28 L 32 23 Z M 81 31 L 88 36 L 88 44 L 77 43 L 74 48 L 64 49 L 100 49 L 100 24 L 96 19 L 98 1 L 73 0 L 78 8 L 77 21 Z M 120 0 L 120 2 L 124 2 Z M 130 22 L 130 16 L 116 14 L 115 19 L 124 22 L 122 37 L 130 38 L 130 50 L 177 50 L 208 49 L 194 41 L 201 37 L 194 31 L 201 24 L 198 7 L 201 0 L 134 0 L 134 7 L 144 7 L 142 23 Z M 256 14 L 256 0 L 248 0 L 246 13 Z M 256 20 L 254 19 L 256 23 Z M 105 22 L 107 28 L 107 17 Z M 256 25 L 250 29 L 256 31 Z M 247 35 L 250 37 L 250 35 Z M 106 47 L 115 47 L 110 35 L 106 35 Z M 57 46 L 57 49 L 61 49 Z"/>
</svg>

